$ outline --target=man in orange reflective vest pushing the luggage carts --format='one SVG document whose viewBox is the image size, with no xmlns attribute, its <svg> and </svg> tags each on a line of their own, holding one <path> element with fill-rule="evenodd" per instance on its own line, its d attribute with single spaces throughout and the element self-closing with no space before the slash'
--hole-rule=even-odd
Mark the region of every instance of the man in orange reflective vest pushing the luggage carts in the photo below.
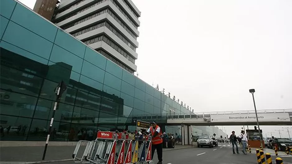
<svg viewBox="0 0 292 164">
<path fill-rule="evenodd" d="M 162 131 L 156 122 L 152 122 L 150 128 L 147 130 L 146 134 L 152 134 L 152 152 L 151 157 L 153 160 L 155 149 L 157 149 L 158 163 L 162 164 Z"/>
</svg>

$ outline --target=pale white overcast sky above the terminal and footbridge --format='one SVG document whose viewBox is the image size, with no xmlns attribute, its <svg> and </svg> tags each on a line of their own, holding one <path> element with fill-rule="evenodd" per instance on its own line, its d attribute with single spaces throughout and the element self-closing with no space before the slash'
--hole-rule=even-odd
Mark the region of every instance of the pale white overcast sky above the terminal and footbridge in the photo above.
<svg viewBox="0 0 292 164">
<path fill-rule="evenodd" d="M 132 1 L 139 78 L 196 112 L 253 110 L 251 88 L 257 109 L 292 109 L 291 0 Z"/>
</svg>

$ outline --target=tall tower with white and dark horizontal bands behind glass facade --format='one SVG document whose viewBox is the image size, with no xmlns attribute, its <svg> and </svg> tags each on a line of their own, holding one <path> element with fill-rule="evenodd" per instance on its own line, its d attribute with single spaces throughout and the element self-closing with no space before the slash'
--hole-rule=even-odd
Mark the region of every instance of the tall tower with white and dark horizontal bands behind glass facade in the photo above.
<svg viewBox="0 0 292 164">
<path fill-rule="evenodd" d="M 62 0 L 52 22 L 133 74 L 140 14 L 131 0 Z"/>
</svg>

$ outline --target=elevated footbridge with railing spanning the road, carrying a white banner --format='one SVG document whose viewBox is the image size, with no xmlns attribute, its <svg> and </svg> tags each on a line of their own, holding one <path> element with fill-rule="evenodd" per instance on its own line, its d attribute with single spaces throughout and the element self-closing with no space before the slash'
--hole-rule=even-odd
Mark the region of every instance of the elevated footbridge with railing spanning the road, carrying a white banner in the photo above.
<svg viewBox="0 0 292 164">
<path fill-rule="evenodd" d="M 292 109 L 258 110 L 260 125 L 292 125 Z M 204 112 L 167 117 L 167 125 L 257 125 L 255 111 Z"/>
</svg>

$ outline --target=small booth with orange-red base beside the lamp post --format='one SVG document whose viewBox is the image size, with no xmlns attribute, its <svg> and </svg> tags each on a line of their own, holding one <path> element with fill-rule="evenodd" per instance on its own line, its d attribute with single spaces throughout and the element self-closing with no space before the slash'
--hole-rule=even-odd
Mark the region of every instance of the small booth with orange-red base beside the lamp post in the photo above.
<svg viewBox="0 0 292 164">
<path fill-rule="evenodd" d="M 246 130 L 248 144 L 252 148 L 259 148 L 261 146 L 261 138 L 263 138 L 262 130 L 260 130 L 260 132 L 261 134 L 259 134 L 258 130 Z M 263 140 L 262 140 L 262 145 L 263 145 L 263 148 L 265 148 L 265 143 Z"/>
</svg>

